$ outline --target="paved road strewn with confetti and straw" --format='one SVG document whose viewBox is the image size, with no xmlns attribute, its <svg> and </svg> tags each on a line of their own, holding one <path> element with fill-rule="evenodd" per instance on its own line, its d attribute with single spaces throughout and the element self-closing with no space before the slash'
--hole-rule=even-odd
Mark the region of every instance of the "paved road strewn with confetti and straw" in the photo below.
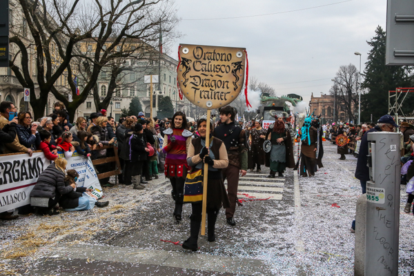
<svg viewBox="0 0 414 276">
<path fill-rule="evenodd" d="M 353 275 L 349 228 L 361 193 L 353 177 L 356 159 L 338 160 L 336 147 L 324 146 L 325 167 L 316 177 L 293 170 L 276 179 L 265 178 L 268 170 L 243 177 L 237 226 L 228 226 L 221 210 L 216 242 L 200 237 L 197 253 L 180 246 L 189 235 L 190 206 L 175 222 L 170 184 L 162 177 L 142 191 L 106 188 L 109 208 L 1 222 L 1 254 L 28 254 L 3 259 L 0 269 L 22 275 Z M 402 193 L 402 208 L 405 199 Z M 400 275 L 413 269 L 413 222 L 402 212 Z"/>
</svg>

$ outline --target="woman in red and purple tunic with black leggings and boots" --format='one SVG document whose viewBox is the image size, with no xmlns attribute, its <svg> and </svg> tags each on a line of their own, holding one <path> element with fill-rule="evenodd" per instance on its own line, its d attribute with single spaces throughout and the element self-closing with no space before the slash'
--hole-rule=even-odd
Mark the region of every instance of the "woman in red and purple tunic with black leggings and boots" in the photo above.
<svg viewBox="0 0 414 276">
<path fill-rule="evenodd" d="M 164 173 L 171 181 L 172 199 L 175 201 L 174 217 L 181 220 L 184 199 L 184 181 L 187 176 L 187 152 L 191 144 L 191 133 L 187 130 L 187 118 L 184 112 L 175 112 L 172 116 L 172 128 L 164 130 L 162 150 L 166 153 Z"/>
</svg>

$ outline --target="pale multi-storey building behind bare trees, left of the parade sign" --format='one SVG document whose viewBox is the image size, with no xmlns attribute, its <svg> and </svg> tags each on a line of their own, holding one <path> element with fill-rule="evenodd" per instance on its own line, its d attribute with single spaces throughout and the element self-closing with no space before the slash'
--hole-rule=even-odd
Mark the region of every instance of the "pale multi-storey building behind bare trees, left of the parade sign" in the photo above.
<svg viewBox="0 0 414 276">
<path fill-rule="evenodd" d="M 126 66 L 131 66 L 132 70 L 119 80 L 117 88 L 112 95 L 108 106 L 108 115 L 119 120 L 122 110 L 128 110 L 133 98 L 138 97 L 141 102 L 142 111 L 146 117 L 157 117 L 158 103 L 166 96 L 172 101 L 174 110 L 181 110 L 189 117 L 195 115 L 195 106 L 185 97 L 181 100 L 177 89 L 177 65 L 178 61 L 168 55 L 161 55 L 161 61 L 148 61 L 134 59 L 126 60 Z M 152 83 L 152 115 L 150 115 L 150 83 L 144 82 L 146 75 L 159 75 L 159 82 Z M 108 92 L 110 82 L 110 68 L 103 68 L 99 73 L 97 86 L 99 89 L 99 99 L 103 101 Z M 89 117 L 92 112 L 96 112 L 93 95 L 78 108 L 77 116 Z"/>
</svg>

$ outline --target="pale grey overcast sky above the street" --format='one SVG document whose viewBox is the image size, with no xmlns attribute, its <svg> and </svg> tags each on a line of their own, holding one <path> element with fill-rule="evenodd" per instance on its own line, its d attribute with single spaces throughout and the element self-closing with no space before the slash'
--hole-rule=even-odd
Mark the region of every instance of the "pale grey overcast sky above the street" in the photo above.
<svg viewBox="0 0 414 276">
<path fill-rule="evenodd" d="M 353 63 L 362 72 L 366 41 L 386 28 L 386 0 L 175 0 L 184 36 L 179 43 L 244 47 L 249 76 L 268 83 L 278 96 L 296 93 L 311 99 L 328 93 L 339 66 Z M 268 14 L 268 15 L 264 15 Z M 221 19 L 240 17 L 235 19 Z M 191 20 L 214 19 L 214 20 Z"/>
</svg>

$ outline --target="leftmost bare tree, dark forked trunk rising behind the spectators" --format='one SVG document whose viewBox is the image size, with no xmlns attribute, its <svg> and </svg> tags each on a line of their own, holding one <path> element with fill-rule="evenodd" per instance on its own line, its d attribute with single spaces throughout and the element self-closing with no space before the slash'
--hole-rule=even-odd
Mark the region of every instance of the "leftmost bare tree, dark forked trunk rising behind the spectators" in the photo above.
<svg viewBox="0 0 414 276">
<path fill-rule="evenodd" d="M 74 6 L 78 2 L 79 0 L 75 0 Z M 19 4 L 24 17 L 22 20 L 26 20 L 30 32 L 29 34 L 24 33 L 24 29 L 19 28 L 18 24 L 10 28 L 12 33 L 10 45 L 19 50 L 15 53 L 14 58 L 9 61 L 9 66 L 21 86 L 30 88 L 32 91 L 30 93 L 30 105 L 33 109 L 34 118 L 39 118 L 43 116 L 50 90 L 54 88 L 55 83 L 70 63 L 75 43 L 90 37 L 92 33 L 72 34 L 62 39 L 63 29 L 70 21 L 74 9 L 66 10 L 65 14 L 61 14 L 59 20 L 54 21 L 58 9 L 56 2 L 42 0 L 39 3 L 39 0 L 19 0 Z M 27 43 L 27 37 L 32 40 L 32 44 Z M 65 41 L 64 44 L 61 43 L 62 40 Z M 59 55 L 55 55 L 57 52 L 52 47 L 54 45 L 59 45 Z M 30 72 L 31 52 L 34 52 L 36 57 L 36 76 L 32 76 Z M 21 59 L 20 64 L 16 63 L 18 56 Z M 39 86 L 39 98 L 34 93 L 37 85 Z"/>
</svg>

